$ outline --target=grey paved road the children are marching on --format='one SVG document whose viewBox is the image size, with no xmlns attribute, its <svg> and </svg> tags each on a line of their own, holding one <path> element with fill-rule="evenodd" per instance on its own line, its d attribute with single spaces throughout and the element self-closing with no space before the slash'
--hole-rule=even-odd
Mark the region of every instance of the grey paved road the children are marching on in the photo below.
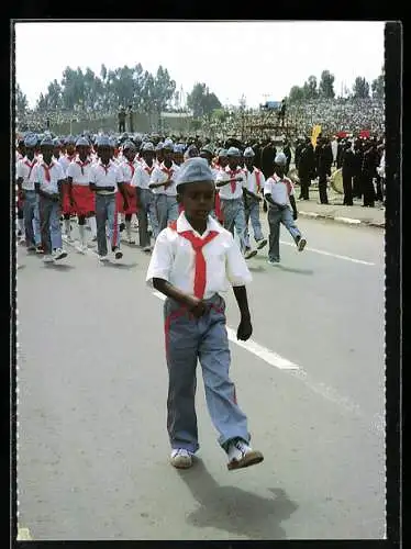
<svg viewBox="0 0 411 549">
<path fill-rule="evenodd" d="M 231 344 L 232 378 L 266 459 L 233 472 L 201 383 L 201 459 L 168 463 L 148 258 L 124 245 L 123 265 L 103 266 L 68 248 L 44 266 L 21 250 L 19 526 L 38 540 L 385 536 L 384 233 L 299 225 L 303 254 L 284 233 L 281 266 L 249 262 L 254 354 Z"/>
</svg>

